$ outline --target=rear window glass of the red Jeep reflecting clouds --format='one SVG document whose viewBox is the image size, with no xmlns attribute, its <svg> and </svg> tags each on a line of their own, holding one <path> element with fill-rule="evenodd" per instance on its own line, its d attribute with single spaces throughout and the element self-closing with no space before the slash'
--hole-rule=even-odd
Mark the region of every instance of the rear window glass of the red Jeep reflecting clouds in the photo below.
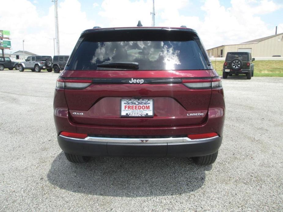
<svg viewBox="0 0 283 212">
<path fill-rule="evenodd" d="M 98 64 L 116 62 L 138 63 L 139 70 L 211 69 L 198 42 L 189 33 L 166 31 L 159 32 L 158 36 L 158 32 L 143 34 L 140 31 L 139 34 L 115 34 L 104 36 L 104 40 L 103 36 L 88 35 L 80 43 L 66 70 L 119 70 L 98 67 Z"/>
</svg>

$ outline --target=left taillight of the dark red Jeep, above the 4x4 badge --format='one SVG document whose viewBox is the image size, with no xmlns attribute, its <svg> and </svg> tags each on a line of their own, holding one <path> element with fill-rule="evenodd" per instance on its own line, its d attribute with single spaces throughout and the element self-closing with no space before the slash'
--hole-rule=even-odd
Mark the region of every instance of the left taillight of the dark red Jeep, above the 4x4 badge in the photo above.
<svg viewBox="0 0 283 212">
<path fill-rule="evenodd" d="M 91 85 L 90 79 L 62 79 L 58 78 L 56 81 L 56 88 L 65 89 L 84 89 Z"/>
</svg>

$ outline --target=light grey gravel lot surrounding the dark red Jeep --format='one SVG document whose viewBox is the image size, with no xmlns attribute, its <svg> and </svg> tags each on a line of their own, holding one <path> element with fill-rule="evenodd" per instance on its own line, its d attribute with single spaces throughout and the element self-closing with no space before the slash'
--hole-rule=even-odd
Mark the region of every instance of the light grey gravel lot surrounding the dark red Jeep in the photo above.
<svg viewBox="0 0 283 212">
<path fill-rule="evenodd" d="M 228 77 L 216 163 L 95 158 L 72 164 L 58 146 L 58 74 L 0 71 L 0 210 L 283 210 L 283 78 Z"/>
</svg>

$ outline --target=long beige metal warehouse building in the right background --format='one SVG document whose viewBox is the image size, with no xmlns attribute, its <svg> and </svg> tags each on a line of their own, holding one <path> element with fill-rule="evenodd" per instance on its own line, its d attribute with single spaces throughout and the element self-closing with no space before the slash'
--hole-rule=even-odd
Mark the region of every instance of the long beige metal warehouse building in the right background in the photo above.
<svg viewBox="0 0 283 212">
<path fill-rule="evenodd" d="M 227 52 L 250 52 L 252 57 L 283 57 L 283 33 L 247 41 L 240 44 L 222 45 L 207 49 L 209 57 L 226 57 Z"/>
</svg>

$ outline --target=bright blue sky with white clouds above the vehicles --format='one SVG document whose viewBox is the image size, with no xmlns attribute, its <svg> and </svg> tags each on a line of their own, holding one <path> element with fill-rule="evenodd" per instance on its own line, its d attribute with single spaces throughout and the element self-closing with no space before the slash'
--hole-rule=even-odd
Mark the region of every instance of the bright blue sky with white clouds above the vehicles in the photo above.
<svg viewBox="0 0 283 212">
<path fill-rule="evenodd" d="M 53 55 L 54 2 L 9 0 L 1 8 L 15 6 L 24 15 L 0 13 L 1 27 L 11 31 L 11 51 L 22 49 L 25 39 L 26 50 Z M 151 26 L 152 0 L 58 0 L 58 10 L 60 50 L 70 54 L 84 29 L 136 26 L 138 20 Z M 272 35 L 275 26 L 283 32 L 283 0 L 155 0 L 155 13 L 155 26 L 193 28 L 207 49 Z"/>
</svg>

